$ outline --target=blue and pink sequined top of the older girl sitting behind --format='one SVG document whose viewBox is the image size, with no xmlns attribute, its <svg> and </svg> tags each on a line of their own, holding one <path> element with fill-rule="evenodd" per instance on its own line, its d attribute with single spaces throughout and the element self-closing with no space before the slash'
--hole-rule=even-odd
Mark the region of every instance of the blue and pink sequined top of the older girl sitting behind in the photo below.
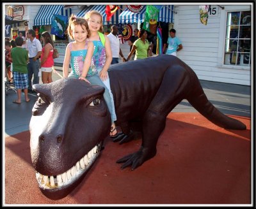
<svg viewBox="0 0 256 209">
<path fill-rule="evenodd" d="M 107 59 L 105 47 L 102 45 L 100 40 L 92 42 L 94 45 L 93 61 L 95 62 L 95 66 L 97 68 L 103 68 Z"/>
</svg>

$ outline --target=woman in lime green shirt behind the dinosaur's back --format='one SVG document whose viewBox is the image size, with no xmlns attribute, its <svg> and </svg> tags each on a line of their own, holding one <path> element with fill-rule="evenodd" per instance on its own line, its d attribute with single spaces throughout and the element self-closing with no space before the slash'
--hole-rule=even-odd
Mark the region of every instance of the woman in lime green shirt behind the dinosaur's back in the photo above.
<svg viewBox="0 0 256 209">
<path fill-rule="evenodd" d="M 141 29 L 138 33 L 138 40 L 134 41 L 132 45 L 132 50 L 127 57 L 127 61 L 131 59 L 132 54 L 135 51 L 134 61 L 136 59 L 145 59 L 148 57 L 148 51 L 152 47 L 149 45 L 147 40 L 147 31 L 145 29 Z M 151 54 L 151 51 L 149 52 Z"/>
</svg>

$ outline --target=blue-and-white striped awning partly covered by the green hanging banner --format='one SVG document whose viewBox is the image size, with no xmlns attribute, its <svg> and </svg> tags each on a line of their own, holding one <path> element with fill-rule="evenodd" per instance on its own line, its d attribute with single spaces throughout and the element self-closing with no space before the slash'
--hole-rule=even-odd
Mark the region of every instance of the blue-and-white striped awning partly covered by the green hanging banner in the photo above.
<svg viewBox="0 0 256 209">
<path fill-rule="evenodd" d="M 147 6 L 144 5 L 139 13 L 134 13 L 126 8 L 119 15 L 119 22 L 122 24 L 144 22 Z M 157 22 L 173 22 L 173 5 L 164 5 L 159 11 Z"/>
</svg>

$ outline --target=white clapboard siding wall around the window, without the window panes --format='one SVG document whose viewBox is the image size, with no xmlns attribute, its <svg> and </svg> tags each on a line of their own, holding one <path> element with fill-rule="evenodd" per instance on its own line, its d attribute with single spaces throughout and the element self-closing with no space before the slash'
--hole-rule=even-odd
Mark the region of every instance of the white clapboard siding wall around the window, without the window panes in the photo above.
<svg viewBox="0 0 256 209">
<path fill-rule="evenodd" d="M 227 11 L 250 10 L 250 5 L 218 8 L 218 15 L 208 18 L 207 25 L 200 22 L 199 5 L 175 6 L 176 36 L 183 49 L 177 53 L 200 80 L 250 85 L 251 69 L 248 66 L 223 64 Z"/>
</svg>

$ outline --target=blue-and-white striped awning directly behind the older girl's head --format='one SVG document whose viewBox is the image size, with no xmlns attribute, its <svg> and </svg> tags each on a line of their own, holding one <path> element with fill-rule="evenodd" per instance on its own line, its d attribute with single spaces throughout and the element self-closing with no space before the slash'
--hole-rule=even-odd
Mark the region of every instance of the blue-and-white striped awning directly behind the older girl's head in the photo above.
<svg viewBox="0 0 256 209">
<path fill-rule="evenodd" d="M 118 5 L 121 9 L 124 7 L 124 5 Z M 106 15 L 106 5 L 92 5 L 89 7 L 84 8 L 83 10 L 79 11 L 77 13 L 77 17 L 84 17 L 84 14 L 88 11 L 96 10 L 99 11 L 99 13 L 102 15 L 103 18 L 103 25 L 114 25 L 119 23 L 119 15 L 122 12 L 122 10 L 118 9 L 116 10 L 115 14 L 111 17 L 109 21 L 107 21 L 107 15 Z"/>
</svg>

